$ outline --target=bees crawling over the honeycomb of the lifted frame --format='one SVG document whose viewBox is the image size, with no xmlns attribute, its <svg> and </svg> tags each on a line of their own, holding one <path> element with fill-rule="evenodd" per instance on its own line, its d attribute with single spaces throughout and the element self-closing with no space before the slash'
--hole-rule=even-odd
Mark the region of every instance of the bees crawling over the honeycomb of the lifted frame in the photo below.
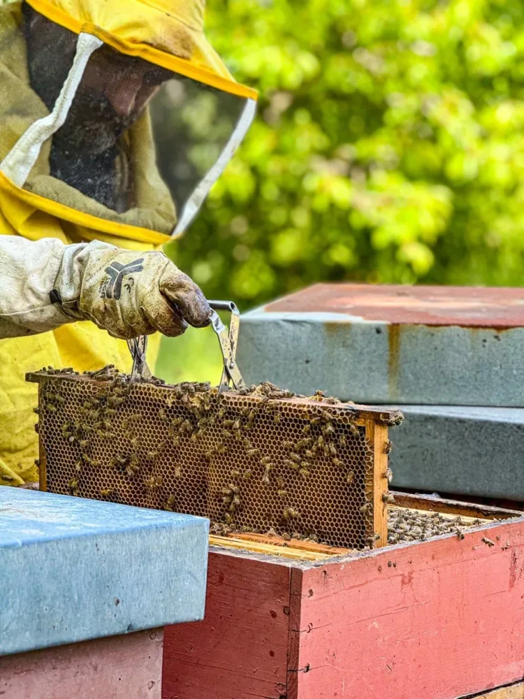
<svg viewBox="0 0 524 699">
<path fill-rule="evenodd" d="M 45 370 L 48 374 L 74 373 L 73 370 Z M 158 404 L 156 415 L 163 424 L 163 435 L 159 436 L 158 443 L 149 451 L 145 451 L 141 434 L 143 415 L 140 412 L 131 412 L 126 406 L 126 401 L 132 390 L 133 384 L 129 377 L 122 375 L 110 365 L 87 375 L 97 382 L 105 382 L 96 395 L 83 399 L 78 410 L 78 417 L 66 420 L 61 425 L 61 435 L 71 444 L 79 447 L 79 456 L 74 463 L 75 475 L 68 482 L 68 491 L 71 495 L 78 495 L 82 473 L 86 468 L 99 468 L 99 459 L 94 458 L 94 447 L 97 453 L 103 453 L 100 442 L 112 442 L 126 438 L 125 453 L 111 456 L 109 466 L 120 473 L 126 480 L 137 481 L 143 484 L 148 493 L 156 497 L 159 507 L 173 511 L 180 509 L 177 502 L 176 481 L 182 479 L 183 460 L 179 458 L 179 449 L 184 448 L 187 442 L 201 446 L 202 457 L 208 463 L 215 458 L 228 454 L 233 449 L 242 449 L 245 456 L 238 459 L 235 468 L 235 460 L 231 459 L 231 471 L 226 475 L 224 487 L 217 493 L 219 514 L 214 517 L 214 528 L 221 533 L 225 531 L 251 531 L 247 527 L 235 524 L 238 515 L 242 512 L 242 482 L 252 478 L 260 480 L 264 487 L 270 487 L 275 491 L 277 501 L 282 503 L 280 507 L 279 531 L 284 538 L 300 538 L 318 541 L 314 531 L 305 531 L 301 522 L 301 513 L 290 503 L 289 487 L 286 480 L 307 480 L 319 461 L 331 463 L 339 473 L 343 474 L 345 482 L 351 486 L 356 481 L 356 473 L 344 463 L 343 452 L 348 445 L 348 440 L 360 435 L 358 427 L 349 421 L 344 424 L 344 431 L 337 426 L 337 418 L 330 411 L 323 408 L 324 405 L 340 404 L 335 398 L 324 396 L 321 391 L 309 400 L 318 403 L 318 406 L 308 406 L 300 412 L 302 425 L 296 439 L 288 439 L 282 442 L 282 455 L 269 456 L 263 454 L 261 445 L 254 439 L 252 430 L 257 424 L 257 418 L 263 416 L 275 423 L 275 426 L 284 419 L 282 400 L 285 398 L 305 398 L 296 396 L 291 391 L 279 389 L 275 384 L 264 382 L 259 386 L 245 387 L 238 391 L 243 397 L 254 398 L 253 401 L 240 401 L 231 403 L 226 396 L 217 395 L 208 382 L 193 383 L 184 382 L 170 387 L 166 391 L 166 397 Z M 64 398 L 57 389 L 49 389 L 51 382 L 43 389 L 43 401 L 45 409 L 49 412 L 57 412 L 64 407 Z M 161 382 L 159 382 L 161 383 Z M 160 395 L 160 394 L 159 394 Z M 172 410 L 177 408 L 177 410 Z M 182 408 L 183 410 L 180 410 Z M 344 412 L 351 417 L 351 411 Z M 118 415 L 118 421 L 115 417 Z M 116 426 L 116 424 L 118 426 Z M 267 423 L 266 423 L 267 424 Z M 169 481 L 173 487 L 172 493 L 165 493 L 165 479 L 155 474 L 155 463 L 163 452 L 169 449 L 170 473 Z M 114 449 L 113 449 L 114 452 Z M 247 457 L 247 458 L 246 458 Z M 102 457 L 100 457 L 102 458 Z M 221 463 L 224 463 L 222 460 Z M 289 471 L 289 477 L 282 473 L 282 465 Z M 279 474 L 275 475 L 275 467 L 279 466 Z M 158 470 L 158 469 L 157 469 Z M 173 476 L 175 484 L 173 485 Z M 166 477 L 166 473 L 164 473 Z M 119 493 L 115 489 L 102 488 L 101 498 L 119 500 Z M 154 500 L 153 500 L 154 501 Z M 365 502 L 361 507 L 362 514 L 372 511 L 372 504 Z M 275 524 L 277 526 L 277 524 Z M 217 530 L 218 531 L 218 530 Z M 282 534 L 283 532 L 283 534 Z M 301 533 L 300 533 L 301 532 Z"/>
</svg>

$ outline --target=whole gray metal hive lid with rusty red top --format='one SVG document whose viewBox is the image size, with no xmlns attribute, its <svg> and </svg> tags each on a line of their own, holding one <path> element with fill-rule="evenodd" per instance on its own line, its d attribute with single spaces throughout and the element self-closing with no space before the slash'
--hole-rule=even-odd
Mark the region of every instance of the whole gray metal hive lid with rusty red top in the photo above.
<svg viewBox="0 0 524 699">
<path fill-rule="evenodd" d="M 316 284 L 242 316 L 248 382 L 345 401 L 524 407 L 524 289 Z"/>
</svg>

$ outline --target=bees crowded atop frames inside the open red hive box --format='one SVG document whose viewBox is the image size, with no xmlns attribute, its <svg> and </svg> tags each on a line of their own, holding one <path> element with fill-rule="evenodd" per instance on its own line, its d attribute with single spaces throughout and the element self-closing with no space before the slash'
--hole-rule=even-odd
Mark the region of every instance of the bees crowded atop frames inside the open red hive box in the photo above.
<svg viewBox="0 0 524 699">
<path fill-rule="evenodd" d="M 425 541 L 433 536 L 451 533 L 463 539 L 463 528 L 477 524 L 480 524 L 478 519 L 465 522 L 460 516 L 450 519 L 439 512 L 392 509 L 388 512 L 388 543 Z"/>
</svg>

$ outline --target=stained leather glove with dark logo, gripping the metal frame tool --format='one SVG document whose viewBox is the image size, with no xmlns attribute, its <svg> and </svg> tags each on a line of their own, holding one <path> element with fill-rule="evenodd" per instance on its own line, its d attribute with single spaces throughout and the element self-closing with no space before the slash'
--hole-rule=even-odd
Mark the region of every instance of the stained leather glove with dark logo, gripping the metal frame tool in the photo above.
<svg viewBox="0 0 524 699">
<path fill-rule="evenodd" d="M 81 257 L 80 296 L 72 304 L 57 298 L 66 313 L 124 340 L 156 331 L 176 337 L 188 324 L 209 324 L 211 309 L 201 289 L 162 252 L 110 248 Z"/>
</svg>

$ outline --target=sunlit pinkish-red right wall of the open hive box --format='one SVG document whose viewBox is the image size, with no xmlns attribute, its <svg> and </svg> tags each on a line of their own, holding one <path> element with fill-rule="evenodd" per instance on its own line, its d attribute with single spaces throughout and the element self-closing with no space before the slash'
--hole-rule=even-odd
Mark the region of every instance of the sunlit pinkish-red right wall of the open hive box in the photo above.
<svg viewBox="0 0 524 699">
<path fill-rule="evenodd" d="M 517 682 L 524 522 L 310 568 L 300 600 L 289 699 L 454 699 Z"/>
</svg>

